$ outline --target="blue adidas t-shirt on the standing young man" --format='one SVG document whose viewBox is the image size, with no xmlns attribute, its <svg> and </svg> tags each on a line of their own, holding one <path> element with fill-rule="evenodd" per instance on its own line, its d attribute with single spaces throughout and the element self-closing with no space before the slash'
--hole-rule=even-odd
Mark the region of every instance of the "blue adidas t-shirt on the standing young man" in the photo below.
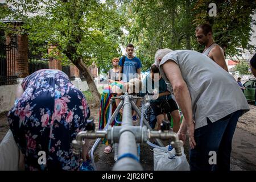
<svg viewBox="0 0 256 182">
<path fill-rule="evenodd" d="M 122 67 L 123 57 L 119 60 L 119 66 Z M 138 57 L 133 57 L 133 59 L 129 59 L 125 56 L 125 64 L 123 65 L 123 81 L 129 81 L 135 77 L 135 73 L 137 73 L 137 69 L 141 68 L 141 60 Z M 130 74 L 130 76 L 129 76 Z"/>
</svg>

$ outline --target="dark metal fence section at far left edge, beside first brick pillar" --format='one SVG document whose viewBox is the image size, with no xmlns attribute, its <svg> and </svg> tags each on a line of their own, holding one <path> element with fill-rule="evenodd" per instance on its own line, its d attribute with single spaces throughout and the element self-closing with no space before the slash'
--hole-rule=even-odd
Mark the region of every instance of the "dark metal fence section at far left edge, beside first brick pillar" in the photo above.
<svg viewBox="0 0 256 182">
<path fill-rule="evenodd" d="M 17 83 L 15 74 L 15 48 L 16 43 L 11 39 L 9 44 L 0 42 L 0 85 L 13 85 Z"/>
</svg>

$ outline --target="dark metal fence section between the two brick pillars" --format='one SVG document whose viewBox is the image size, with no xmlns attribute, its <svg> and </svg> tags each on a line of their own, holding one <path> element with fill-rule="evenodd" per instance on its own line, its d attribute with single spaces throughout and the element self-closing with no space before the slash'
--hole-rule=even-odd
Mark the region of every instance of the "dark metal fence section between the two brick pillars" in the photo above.
<svg viewBox="0 0 256 182">
<path fill-rule="evenodd" d="M 28 54 L 28 73 L 34 73 L 39 69 L 49 69 L 49 62 L 53 59 L 46 59 L 40 55 Z"/>
</svg>

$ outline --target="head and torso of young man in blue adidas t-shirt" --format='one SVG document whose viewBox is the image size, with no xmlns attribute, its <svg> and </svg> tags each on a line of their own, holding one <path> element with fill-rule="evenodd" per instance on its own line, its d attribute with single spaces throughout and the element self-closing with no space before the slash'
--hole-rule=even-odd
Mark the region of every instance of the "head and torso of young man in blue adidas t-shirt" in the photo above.
<svg viewBox="0 0 256 182">
<path fill-rule="evenodd" d="M 125 60 L 123 57 L 119 60 L 119 80 L 129 82 L 132 78 L 140 78 L 141 77 L 141 60 L 134 56 L 134 46 L 133 44 L 128 44 L 126 46 L 127 56 L 125 56 Z M 124 61 L 124 63 L 123 63 Z"/>
</svg>

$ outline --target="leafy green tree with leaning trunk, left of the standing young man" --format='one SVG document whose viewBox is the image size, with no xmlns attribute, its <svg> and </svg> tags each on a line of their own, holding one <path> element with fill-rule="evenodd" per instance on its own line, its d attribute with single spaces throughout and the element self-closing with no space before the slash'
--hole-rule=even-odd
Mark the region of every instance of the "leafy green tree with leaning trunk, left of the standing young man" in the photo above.
<svg viewBox="0 0 256 182">
<path fill-rule="evenodd" d="M 31 45 L 40 45 L 42 49 L 49 44 L 56 46 L 55 51 L 60 53 L 57 59 L 75 64 L 90 91 L 96 93 L 94 97 L 100 99 L 85 65 L 96 63 L 109 69 L 110 60 L 121 55 L 121 25 L 125 24 L 125 18 L 115 1 L 7 0 L 7 3 L 15 9 L 11 16 L 24 22 L 19 28 L 28 32 Z"/>
</svg>

